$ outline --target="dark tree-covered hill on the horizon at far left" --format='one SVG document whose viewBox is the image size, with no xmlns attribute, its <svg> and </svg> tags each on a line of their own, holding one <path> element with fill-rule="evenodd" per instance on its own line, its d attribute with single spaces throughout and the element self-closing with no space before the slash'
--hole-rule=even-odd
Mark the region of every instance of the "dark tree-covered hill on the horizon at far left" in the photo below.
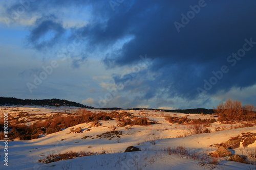
<svg viewBox="0 0 256 170">
<path fill-rule="evenodd" d="M 82 105 L 80 103 L 71 102 L 61 99 L 42 99 L 42 100 L 31 100 L 31 99 L 17 99 L 17 98 L 5 98 L 0 97 L 0 105 L 37 105 L 37 106 L 75 106 L 82 108 L 91 108 L 91 106 Z"/>
</svg>

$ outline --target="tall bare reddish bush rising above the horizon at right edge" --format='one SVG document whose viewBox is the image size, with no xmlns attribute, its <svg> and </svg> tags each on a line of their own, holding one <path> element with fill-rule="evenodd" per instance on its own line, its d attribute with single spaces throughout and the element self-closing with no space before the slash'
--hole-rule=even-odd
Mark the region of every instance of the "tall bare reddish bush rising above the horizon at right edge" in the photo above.
<svg viewBox="0 0 256 170">
<path fill-rule="evenodd" d="M 239 101 L 228 99 L 225 103 L 214 107 L 215 114 L 219 115 L 220 122 L 242 122 L 256 120 L 256 108 L 253 105 L 242 106 Z"/>
</svg>

